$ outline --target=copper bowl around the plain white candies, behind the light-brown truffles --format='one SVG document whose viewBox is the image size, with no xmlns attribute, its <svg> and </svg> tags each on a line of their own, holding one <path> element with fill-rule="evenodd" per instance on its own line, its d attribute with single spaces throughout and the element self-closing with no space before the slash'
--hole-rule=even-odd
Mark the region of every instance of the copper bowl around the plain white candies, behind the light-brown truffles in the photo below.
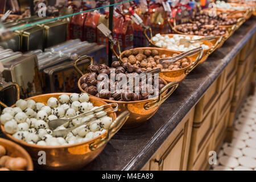
<svg viewBox="0 0 256 182">
<path fill-rule="evenodd" d="M 151 28 L 149 28 L 149 30 L 150 30 L 150 32 L 152 31 Z M 146 38 L 148 39 L 148 42 L 150 43 L 151 46 L 153 46 L 153 47 L 158 47 L 158 48 L 162 48 L 162 47 L 156 46 L 156 45 L 154 44 L 154 42 L 152 42 L 152 38 L 153 38 L 153 37 L 151 37 L 151 39 L 148 38 L 148 36 L 147 36 L 147 34 L 146 34 L 146 31 L 144 31 L 144 35 L 145 35 Z M 165 35 L 168 35 L 170 38 L 172 38 L 174 35 L 190 36 L 190 37 L 195 36 L 195 35 L 180 35 L 180 34 L 163 34 L 162 36 L 165 36 Z M 204 36 L 199 36 L 199 37 L 200 37 L 200 38 L 203 38 Z M 204 49 L 204 54 L 203 54 L 202 59 L 199 61 L 199 64 L 204 63 L 204 61 L 207 60 L 207 57 L 208 57 L 208 56 L 217 48 L 217 46 L 218 46 L 217 44 L 213 46 L 212 42 L 210 42 L 210 41 L 208 41 L 208 40 L 203 40 L 203 41 L 201 41 L 201 42 L 203 42 L 205 45 L 209 46 L 209 48 L 208 48 L 208 49 Z M 168 50 L 176 51 L 176 50 L 172 50 L 172 49 L 168 49 Z M 180 51 L 176 51 L 176 52 L 181 53 Z M 191 56 L 190 58 L 191 58 L 193 61 L 195 61 L 195 60 L 196 60 L 196 57 L 197 57 L 197 56 L 194 55 L 194 56 Z"/>
</svg>

